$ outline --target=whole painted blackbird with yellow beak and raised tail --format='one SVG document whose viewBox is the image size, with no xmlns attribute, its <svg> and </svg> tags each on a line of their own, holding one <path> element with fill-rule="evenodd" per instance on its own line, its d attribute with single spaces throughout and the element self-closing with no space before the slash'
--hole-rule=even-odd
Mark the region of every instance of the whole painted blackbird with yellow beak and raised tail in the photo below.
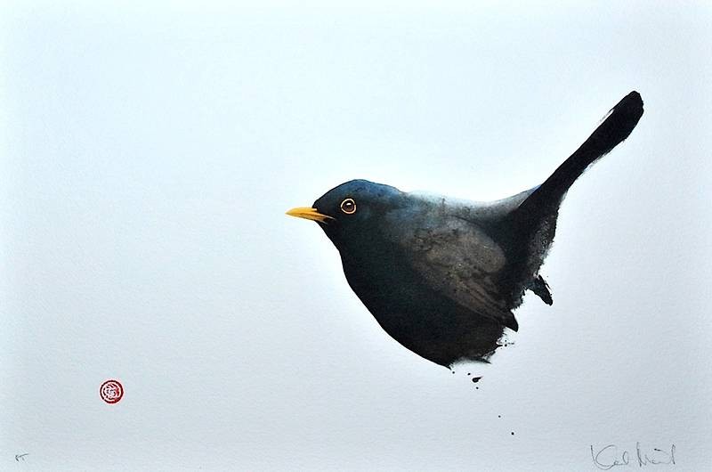
<svg viewBox="0 0 712 472">
<path fill-rule="evenodd" d="M 491 202 L 405 192 L 352 180 L 287 215 L 313 220 L 338 249 L 349 285 L 402 346 L 449 367 L 489 362 L 512 310 L 531 290 L 547 305 L 539 267 L 570 185 L 633 131 L 643 100 L 627 94 L 546 181 Z"/>
</svg>

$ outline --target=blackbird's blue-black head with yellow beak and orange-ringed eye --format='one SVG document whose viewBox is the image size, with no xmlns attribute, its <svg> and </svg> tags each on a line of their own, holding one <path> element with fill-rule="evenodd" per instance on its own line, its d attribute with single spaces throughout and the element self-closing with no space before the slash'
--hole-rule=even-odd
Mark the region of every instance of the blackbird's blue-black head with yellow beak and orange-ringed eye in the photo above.
<svg viewBox="0 0 712 472">
<path fill-rule="evenodd" d="M 352 180 L 326 192 L 312 207 L 292 208 L 287 215 L 317 222 L 341 250 L 376 238 L 385 213 L 401 204 L 402 195 L 390 185 Z"/>
</svg>

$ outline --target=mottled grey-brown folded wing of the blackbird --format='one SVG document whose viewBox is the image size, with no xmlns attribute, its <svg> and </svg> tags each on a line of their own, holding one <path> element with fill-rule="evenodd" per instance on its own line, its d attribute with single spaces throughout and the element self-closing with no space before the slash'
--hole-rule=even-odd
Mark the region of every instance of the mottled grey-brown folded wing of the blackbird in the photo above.
<svg viewBox="0 0 712 472">
<path fill-rule="evenodd" d="M 490 236 L 460 216 L 393 216 L 390 238 L 428 286 L 458 305 L 517 330 L 514 314 L 498 292 L 505 253 Z"/>
</svg>

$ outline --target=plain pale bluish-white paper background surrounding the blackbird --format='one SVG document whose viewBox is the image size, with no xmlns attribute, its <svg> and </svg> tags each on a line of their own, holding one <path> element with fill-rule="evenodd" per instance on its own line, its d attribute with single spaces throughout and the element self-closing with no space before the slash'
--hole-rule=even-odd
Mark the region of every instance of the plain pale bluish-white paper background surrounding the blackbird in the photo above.
<svg viewBox="0 0 712 472">
<path fill-rule="evenodd" d="M 0 469 L 595 470 L 638 441 L 708 469 L 711 12 L 4 4 Z M 284 216 L 356 177 L 522 191 L 633 89 L 563 203 L 554 305 L 479 389 Z"/>
</svg>

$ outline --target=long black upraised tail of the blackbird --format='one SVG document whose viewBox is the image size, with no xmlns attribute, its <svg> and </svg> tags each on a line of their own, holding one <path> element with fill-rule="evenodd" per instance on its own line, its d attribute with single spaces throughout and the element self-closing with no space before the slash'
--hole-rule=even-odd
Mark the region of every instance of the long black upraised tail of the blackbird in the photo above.
<svg viewBox="0 0 712 472">
<path fill-rule="evenodd" d="M 608 117 L 598 126 L 586 142 L 554 171 L 546 182 L 539 185 L 522 204 L 514 210 L 520 218 L 538 220 L 538 217 L 559 207 L 572 183 L 588 166 L 602 158 L 623 142 L 643 116 L 643 99 L 631 92 L 611 109 Z M 552 208 L 554 207 L 554 208 Z"/>
</svg>

